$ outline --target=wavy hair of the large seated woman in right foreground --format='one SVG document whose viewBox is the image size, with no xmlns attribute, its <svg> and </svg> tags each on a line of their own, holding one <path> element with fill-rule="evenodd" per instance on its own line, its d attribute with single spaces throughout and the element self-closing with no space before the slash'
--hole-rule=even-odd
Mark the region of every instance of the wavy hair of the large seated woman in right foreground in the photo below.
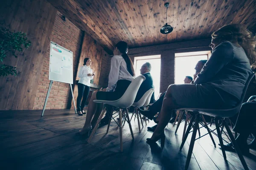
<svg viewBox="0 0 256 170">
<path fill-rule="evenodd" d="M 245 25 L 229 24 L 212 33 L 212 43 L 230 41 L 244 48 L 250 65 L 256 65 L 256 38 Z"/>
</svg>

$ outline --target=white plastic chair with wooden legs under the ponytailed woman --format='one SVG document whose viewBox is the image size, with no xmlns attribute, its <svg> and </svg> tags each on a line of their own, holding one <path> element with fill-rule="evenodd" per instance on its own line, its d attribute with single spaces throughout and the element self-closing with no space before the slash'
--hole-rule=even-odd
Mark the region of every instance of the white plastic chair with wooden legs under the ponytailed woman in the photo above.
<svg viewBox="0 0 256 170">
<path fill-rule="evenodd" d="M 128 109 L 127 108 L 131 107 L 131 105 L 134 103 L 134 100 L 135 100 L 137 92 L 140 88 L 140 85 L 144 80 L 145 80 L 145 77 L 143 75 L 140 75 L 140 76 L 136 77 L 131 82 L 131 84 L 128 86 L 128 88 L 126 89 L 126 91 L 122 95 L 122 97 L 118 100 L 115 100 L 115 101 L 93 100 L 93 102 L 96 102 L 96 103 L 105 103 L 107 105 L 111 105 L 111 106 L 114 106 L 116 108 L 119 108 L 119 125 L 118 126 L 119 126 L 119 133 L 120 133 L 120 150 L 121 150 L 121 152 L 123 151 L 123 144 L 122 144 L 122 109 L 125 109 L 125 111 L 126 111 L 127 122 L 129 124 L 129 127 L 130 127 L 132 139 L 134 139 L 134 135 L 133 135 L 133 132 L 132 132 L 131 122 L 130 122 L 130 119 L 129 119 L 129 116 L 128 116 Z M 106 111 L 106 108 L 104 108 L 102 113 L 100 114 L 99 119 L 98 119 L 95 127 L 93 128 L 93 131 L 90 134 L 90 137 L 87 141 L 88 143 L 90 143 L 90 141 L 93 137 L 93 134 L 95 133 L 96 129 L 98 128 L 99 122 L 101 121 L 102 116 L 104 115 L 105 111 Z M 111 122 L 111 119 L 110 119 L 109 124 L 108 124 L 107 133 L 108 133 L 108 130 L 109 130 L 110 122 Z"/>
</svg>

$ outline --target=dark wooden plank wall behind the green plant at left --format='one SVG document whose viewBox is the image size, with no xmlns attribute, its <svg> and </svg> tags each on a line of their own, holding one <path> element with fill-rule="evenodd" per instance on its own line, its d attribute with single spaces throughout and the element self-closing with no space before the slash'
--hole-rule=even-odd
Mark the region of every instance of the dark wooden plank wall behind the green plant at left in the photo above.
<svg viewBox="0 0 256 170">
<path fill-rule="evenodd" d="M 44 54 L 57 10 L 45 0 L 2 0 L 0 25 L 23 31 L 32 42 L 31 47 L 7 58 L 6 64 L 17 66 L 17 77 L 0 77 L 0 110 L 30 110 L 33 108 Z"/>
</svg>

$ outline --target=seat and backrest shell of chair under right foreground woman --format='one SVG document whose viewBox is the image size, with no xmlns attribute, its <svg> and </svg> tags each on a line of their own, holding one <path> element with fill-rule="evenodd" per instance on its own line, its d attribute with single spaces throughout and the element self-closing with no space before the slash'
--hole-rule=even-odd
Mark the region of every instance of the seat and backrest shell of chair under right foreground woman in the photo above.
<svg viewBox="0 0 256 170">
<path fill-rule="evenodd" d="M 245 83 L 243 93 L 241 95 L 241 99 L 235 108 L 222 109 L 222 110 L 220 110 L 220 109 L 202 109 L 202 108 L 180 108 L 177 110 L 199 112 L 204 115 L 222 117 L 222 118 L 232 117 L 240 111 L 241 105 L 243 104 L 243 101 L 244 101 L 244 96 L 246 94 L 247 88 L 250 84 L 250 81 L 253 79 L 254 75 L 255 75 L 255 73 L 251 74 L 250 77 L 248 78 L 247 82 Z"/>
</svg>

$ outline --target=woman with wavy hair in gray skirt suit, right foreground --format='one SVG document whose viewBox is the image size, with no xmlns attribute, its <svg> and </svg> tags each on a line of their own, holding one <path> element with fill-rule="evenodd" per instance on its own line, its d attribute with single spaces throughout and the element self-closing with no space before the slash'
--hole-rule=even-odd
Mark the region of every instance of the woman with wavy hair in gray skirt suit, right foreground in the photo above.
<svg viewBox="0 0 256 170">
<path fill-rule="evenodd" d="M 172 109 L 235 107 L 256 64 L 255 37 L 241 24 L 223 26 L 212 34 L 211 57 L 195 84 L 170 85 L 163 100 L 159 123 L 148 142 L 164 138 Z"/>
</svg>

